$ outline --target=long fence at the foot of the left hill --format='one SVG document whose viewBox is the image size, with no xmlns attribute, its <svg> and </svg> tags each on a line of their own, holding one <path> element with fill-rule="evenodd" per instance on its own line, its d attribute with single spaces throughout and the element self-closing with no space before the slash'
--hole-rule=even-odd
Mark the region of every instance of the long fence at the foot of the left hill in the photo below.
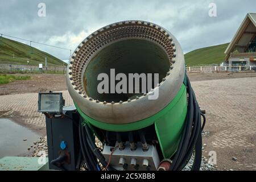
<svg viewBox="0 0 256 182">
<path fill-rule="evenodd" d="M 52 74 L 65 74 L 67 67 L 43 67 L 39 68 L 35 65 L 10 65 L 0 64 L 0 73 L 52 73 Z"/>
</svg>

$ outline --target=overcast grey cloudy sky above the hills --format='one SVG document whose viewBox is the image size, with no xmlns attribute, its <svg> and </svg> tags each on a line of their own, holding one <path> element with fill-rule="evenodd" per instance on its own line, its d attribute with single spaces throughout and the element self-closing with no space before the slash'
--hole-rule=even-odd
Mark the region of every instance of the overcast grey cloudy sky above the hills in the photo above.
<svg viewBox="0 0 256 182">
<path fill-rule="evenodd" d="M 45 17 L 38 16 L 39 3 L 46 4 Z M 217 6 L 216 17 L 208 14 L 210 3 Z M 183 51 L 189 52 L 230 42 L 249 12 L 256 13 L 255 0 L 1 0 L 0 34 L 75 49 L 98 28 L 138 19 L 167 28 L 180 42 Z M 69 51 L 57 48 L 32 46 L 61 60 L 67 60 L 70 55 Z"/>
</svg>

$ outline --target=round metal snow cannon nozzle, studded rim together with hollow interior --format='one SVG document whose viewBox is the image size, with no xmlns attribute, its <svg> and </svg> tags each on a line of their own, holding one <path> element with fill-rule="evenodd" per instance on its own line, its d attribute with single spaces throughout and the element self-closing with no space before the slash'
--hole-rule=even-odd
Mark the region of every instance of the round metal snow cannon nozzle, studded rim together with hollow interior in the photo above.
<svg viewBox="0 0 256 182">
<path fill-rule="evenodd" d="M 97 92 L 97 76 L 106 73 L 110 77 L 112 68 L 115 75 L 158 73 L 159 79 L 139 94 Z M 185 61 L 179 42 L 165 28 L 140 20 L 109 24 L 93 32 L 76 48 L 66 74 L 69 94 L 82 113 L 117 125 L 158 113 L 175 98 L 184 76 Z M 152 100 L 152 94 L 158 92 L 158 98 Z"/>
</svg>

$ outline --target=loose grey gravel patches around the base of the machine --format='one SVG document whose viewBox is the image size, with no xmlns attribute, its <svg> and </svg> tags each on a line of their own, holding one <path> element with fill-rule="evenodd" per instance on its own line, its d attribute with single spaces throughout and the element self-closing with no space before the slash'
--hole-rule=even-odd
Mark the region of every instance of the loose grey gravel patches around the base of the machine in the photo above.
<svg viewBox="0 0 256 182">
<path fill-rule="evenodd" d="M 203 137 L 205 136 L 204 134 L 207 132 L 203 132 Z M 102 148 L 102 144 L 100 142 L 100 140 L 98 140 L 96 138 L 96 146 Z M 35 157 L 40 157 L 42 155 L 42 151 L 45 152 L 46 156 L 48 156 L 48 151 L 47 151 L 47 137 L 41 137 L 38 141 L 34 142 L 34 154 L 32 154 L 32 156 Z M 205 145 L 205 144 L 204 144 Z M 31 145 L 32 147 L 32 145 Z M 204 147 L 202 149 L 202 151 L 204 152 Z M 185 166 L 185 168 L 183 169 L 183 171 L 190 171 L 192 164 L 193 164 L 193 159 L 194 157 L 192 156 L 191 160 L 189 160 L 187 166 Z M 217 167 L 214 166 L 213 164 L 209 164 L 208 163 L 208 159 L 205 158 L 205 156 L 202 156 L 202 162 L 201 162 L 201 167 L 200 167 L 200 171 L 216 171 Z"/>
</svg>

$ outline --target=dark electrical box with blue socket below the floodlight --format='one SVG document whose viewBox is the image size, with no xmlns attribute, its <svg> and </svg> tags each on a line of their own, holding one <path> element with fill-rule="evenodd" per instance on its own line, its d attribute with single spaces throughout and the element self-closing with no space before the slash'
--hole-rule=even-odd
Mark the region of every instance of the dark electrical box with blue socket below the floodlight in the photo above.
<svg viewBox="0 0 256 182">
<path fill-rule="evenodd" d="M 47 118 L 46 131 L 48 144 L 49 169 L 74 171 L 79 168 L 79 119 L 74 106 L 63 107 L 64 117 Z M 61 168 L 51 164 L 61 154 L 67 155 Z"/>
</svg>

